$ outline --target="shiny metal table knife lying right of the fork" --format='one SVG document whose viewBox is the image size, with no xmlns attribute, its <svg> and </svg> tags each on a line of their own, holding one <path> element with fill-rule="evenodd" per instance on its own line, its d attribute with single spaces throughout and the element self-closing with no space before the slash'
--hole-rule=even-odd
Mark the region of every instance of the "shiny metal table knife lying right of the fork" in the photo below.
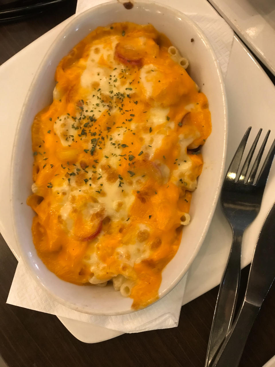
<svg viewBox="0 0 275 367">
<path fill-rule="evenodd" d="M 254 320 L 275 278 L 275 203 L 268 212 L 254 250 L 245 298 L 213 367 L 237 367 Z"/>
</svg>

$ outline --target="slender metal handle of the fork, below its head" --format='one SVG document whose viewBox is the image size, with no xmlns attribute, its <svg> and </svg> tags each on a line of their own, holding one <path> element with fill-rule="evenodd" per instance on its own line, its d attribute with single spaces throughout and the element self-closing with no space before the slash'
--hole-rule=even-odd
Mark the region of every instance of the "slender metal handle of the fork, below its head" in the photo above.
<svg viewBox="0 0 275 367">
<path fill-rule="evenodd" d="M 239 292 L 243 230 L 232 230 L 233 240 L 227 265 L 220 283 L 208 342 L 205 367 L 212 366 L 217 352 L 231 327 Z"/>
</svg>

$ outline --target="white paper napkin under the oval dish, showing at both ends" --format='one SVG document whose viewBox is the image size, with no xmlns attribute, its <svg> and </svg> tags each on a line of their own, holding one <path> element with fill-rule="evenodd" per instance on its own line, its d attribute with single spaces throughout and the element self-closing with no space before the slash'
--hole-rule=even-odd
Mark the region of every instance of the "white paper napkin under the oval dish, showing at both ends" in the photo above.
<svg viewBox="0 0 275 367">
<path fill-rule="evenodd" d="M 96 6 L 106 0 L 78 0 L 77 13 Z M 166 0 L 160 0 L 168 3 Z M 171 5 L 171 4 L 169 4 Z M 178 2 L 174 6 L 181 9 Z M 223 75 L 226 75 L 234 33 L 218 14 L 214 17 L 203 14 L 188 15 L 206 34 L 219 60 Z M 45 292 L 29 274 L 22 260 L 19 261 L 12 281 L 7 303 L 56 316 L 67 317 L 118 330 L 125 333 L 176 327 L 179 321 L 181 302 L 184 295 L 187 274 L 164 298 L 144 310 L 121 316 L 94 316 L 77 312 L 59 304 Z"/>
</svg>

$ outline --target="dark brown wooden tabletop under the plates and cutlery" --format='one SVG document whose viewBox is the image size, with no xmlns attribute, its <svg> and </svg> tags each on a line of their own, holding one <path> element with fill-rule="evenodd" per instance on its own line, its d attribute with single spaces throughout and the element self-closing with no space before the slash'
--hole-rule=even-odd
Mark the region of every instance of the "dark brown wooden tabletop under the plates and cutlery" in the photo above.
<svg viewBox="0 0 275 367">
<path fill-rule="evenodd" d="M 75 4 L 70 1 L 27 21 L 0 24 L 0 64 L 72 15 Z M 6 304 L 16 266 L 17 260 L 0 236 L 0 367 L 204 366 L 217 287 L 182 307 L 177 328 L 85 344 L 56 316 Z M 242 294 L 248 271 L 248 267 L 242 271 Z M 275 284 L 249 335 L 241 367 L 261 367 L 275 355 L 274 310 Z"/>
</svg>

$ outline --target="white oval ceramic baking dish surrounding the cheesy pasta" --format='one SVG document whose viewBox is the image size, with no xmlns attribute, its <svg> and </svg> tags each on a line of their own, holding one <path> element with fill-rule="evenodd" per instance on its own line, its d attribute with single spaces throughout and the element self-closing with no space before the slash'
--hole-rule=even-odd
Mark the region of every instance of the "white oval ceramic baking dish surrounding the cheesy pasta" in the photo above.
<svg viewBox="0 0 275 367">
<path fill-rule="evenodd" d="M 15 136 L 11 179 L 14 228 L 21 256 L 45 290 L 70 308 L 97 315 L 132 312 L 132 300 L 121 297 L 111 287 L 80 287 L 62 281 L 51 273 L 38 258 L 33 246 L 30 229 L 33 212 L 25 203 L 32 184 L 30 126 L 36 113 L 51 103 L 56 66 L 92 29 L 114 21 L 150 22 L 165 33 L 181 53 L 187 55 L 191 65 L 190 75 L 208 97 L 212 114 L 213 131 L 203 147 L 205 163 L 199 179 L 203 185 L 199 185 L 194 193 L 190 212 L 193 219 L 184 230 L 181 246 L 162 273 L 160 298 L 186 273 L 206 235 L 219 195 L 227 141 L 227 108 L 218 62 L 201 30 L 181 12 L 147 2 L 136 3 L 131 11 L 127 11 L 114 1 L 84 12 L 60 33 L 30 87 Z M 195 39 L 194 43 L 191 43 L 191 38 Z"/>
</svg>

